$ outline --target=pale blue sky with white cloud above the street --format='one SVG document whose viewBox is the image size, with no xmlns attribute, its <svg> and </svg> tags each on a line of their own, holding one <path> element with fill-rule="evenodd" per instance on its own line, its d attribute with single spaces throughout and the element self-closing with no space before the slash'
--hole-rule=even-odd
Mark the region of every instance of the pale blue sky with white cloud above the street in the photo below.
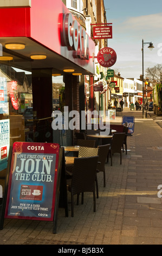
<svg viewBox="0 0 162 256">
<path fill-rule="evenodd" d="M 152 42 L 150 51 L 144 46 L 144 74 L 148 67 L 162 64 L 162 1 L 104 0 L 107 22 L 113 23 L 113 39 L 108 47 L 117 54 L 111 67 L 124 78 L 142 74 L 142 39 Z"/>
</svg>

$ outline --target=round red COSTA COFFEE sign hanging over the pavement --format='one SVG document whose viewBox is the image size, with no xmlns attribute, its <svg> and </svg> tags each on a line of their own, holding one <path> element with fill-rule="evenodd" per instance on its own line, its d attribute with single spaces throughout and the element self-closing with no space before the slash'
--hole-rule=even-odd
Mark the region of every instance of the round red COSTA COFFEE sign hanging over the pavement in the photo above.
<svg viewBox="0 0 162 256">
<path fill-rule="evenodd" d="M 104 68 L 109 68 L 113 66 L 116 62 L 116 52 L 109 47 L 102 48 L 98 53 L 98 63 Z"/>
</svg>

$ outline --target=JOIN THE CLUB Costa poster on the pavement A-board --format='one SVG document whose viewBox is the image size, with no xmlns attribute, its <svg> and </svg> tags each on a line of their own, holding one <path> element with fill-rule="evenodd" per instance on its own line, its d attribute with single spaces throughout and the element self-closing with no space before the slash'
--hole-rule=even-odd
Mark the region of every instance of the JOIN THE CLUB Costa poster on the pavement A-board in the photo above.
<svg viewBox="0 0 162 256">
<path fill-rule="evenodd" d="M 53 221 L 59 144 L 15 142 L 6 218 Z"/>
</svg>

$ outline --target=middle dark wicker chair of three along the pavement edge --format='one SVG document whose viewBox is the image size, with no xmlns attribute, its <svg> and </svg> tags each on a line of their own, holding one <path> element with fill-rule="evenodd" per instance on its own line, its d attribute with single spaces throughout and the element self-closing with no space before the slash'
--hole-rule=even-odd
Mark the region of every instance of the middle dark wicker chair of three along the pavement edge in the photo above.
<svg viewBox="0 0 162 256">
<path fill-rule="evenodd" d="M 106 173 L 105 173 L 105 162 L 109 152 L 110 144 L 98 146 L 99 163 L 97 166 L 97 172 L 103 172 L 103 187 L 106 187 Z"/>
</svg>

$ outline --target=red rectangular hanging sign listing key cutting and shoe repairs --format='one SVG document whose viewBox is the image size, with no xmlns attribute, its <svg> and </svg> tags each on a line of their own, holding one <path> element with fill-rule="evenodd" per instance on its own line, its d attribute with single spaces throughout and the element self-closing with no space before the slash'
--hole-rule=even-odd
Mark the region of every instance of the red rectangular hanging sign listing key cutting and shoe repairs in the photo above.
<svg viewBox="0 0 162 256">
<path fill-rule="evenodd" d="M 97 24 L 96 24 L 97 25 Z M 112 39 L 112 26 L 94 26 L 93 39 Z"/>
</svg>

